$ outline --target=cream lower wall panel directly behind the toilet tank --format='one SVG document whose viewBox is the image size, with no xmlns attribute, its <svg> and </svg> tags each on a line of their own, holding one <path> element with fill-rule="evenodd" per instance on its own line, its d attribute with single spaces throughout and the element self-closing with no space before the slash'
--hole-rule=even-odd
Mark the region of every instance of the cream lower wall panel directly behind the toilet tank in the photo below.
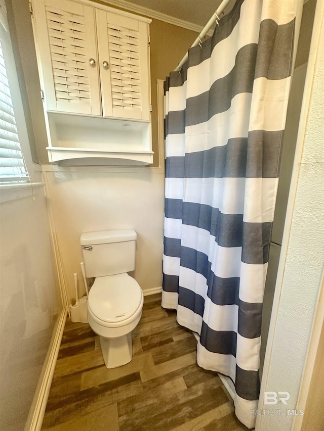
<svg viewBox="0 0 324 431">
<path fill-rule="evenodd" d="M 73 273 L 78 273 L 79 295 L 85 289 L 80 272 L 82 232 L 135 229 L 138 235 L 136 269 L 131 274 L 143 291 L 162 284 L 164 174 L 154 168 L 116 172 L 109 168 L 47 170 L 51 209 L 69 299 L 75 298 Z M 53 171 L 53 170 L 56 170 Z M 122 169 L 123 170 L 123 169 Z M 132 172 L 132 170 L 134 172 Z M 153 171 L 153 172 L 152 172 Z"/>
</svg>

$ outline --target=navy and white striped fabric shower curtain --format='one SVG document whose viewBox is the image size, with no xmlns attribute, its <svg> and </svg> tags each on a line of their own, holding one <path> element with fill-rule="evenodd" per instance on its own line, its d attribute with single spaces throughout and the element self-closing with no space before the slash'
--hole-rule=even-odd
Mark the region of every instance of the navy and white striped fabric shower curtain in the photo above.
<svg viewBox="0 0 324 431">
<path fill-rule="evenodd" d="M 252 428 L 296 0 L 237 0 L 166 81 L 162 306 L 199 334 Z"/>
</svg>

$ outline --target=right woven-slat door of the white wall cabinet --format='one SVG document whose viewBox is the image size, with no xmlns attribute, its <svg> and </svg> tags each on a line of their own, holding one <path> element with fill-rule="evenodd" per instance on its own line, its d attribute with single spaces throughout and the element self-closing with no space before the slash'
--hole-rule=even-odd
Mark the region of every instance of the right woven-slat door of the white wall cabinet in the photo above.
<svg viewBox="0 0 324 431">
<path fill-rule="evenodd" d="M 150 119 L 148 25 L 96 10 L 104 117 Z"/>
</svg>

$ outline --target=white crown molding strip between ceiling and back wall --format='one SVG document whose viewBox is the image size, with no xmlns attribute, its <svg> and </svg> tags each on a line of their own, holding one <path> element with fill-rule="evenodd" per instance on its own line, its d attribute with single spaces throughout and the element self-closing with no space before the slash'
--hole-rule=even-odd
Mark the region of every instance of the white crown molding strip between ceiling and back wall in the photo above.
<svg viewBox="0 0 324 431">
<path fill-rule="evenodd" d="M 135 5 L 134 3 L 127 2 L 127 0 L 101 0 L 103 3 L 111 6 L 117 6 L 118 8 L 127 9 L 128 11 L 135 12 L 140 15 L 144 15 L 149 18 L 154 18 L 160 21 L 167 22 L 168 24 L 177 25 L 178 27 L 186 28 L 200 33 L 203 27 L 192 22 L 184 21 L 179 18 L 171 17 L 170 15 L 163 14 L 161 12 L 153 11 L 152 9 L 144 8 L 143 6 Z M 207 36 L 212 36 L 213 30 L 209 30 Z"/>
</svg>

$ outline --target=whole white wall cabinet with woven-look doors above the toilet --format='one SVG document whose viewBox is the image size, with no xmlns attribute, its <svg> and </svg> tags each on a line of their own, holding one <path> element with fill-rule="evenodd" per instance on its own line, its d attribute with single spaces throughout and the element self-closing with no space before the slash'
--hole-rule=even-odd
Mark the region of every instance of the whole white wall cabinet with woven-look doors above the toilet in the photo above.
<svg viewBox="0 0 324 431">
<path fill-rule="evenodd" d="M 32 18 L 50 161 L 152 163 L 150 20 L 89 0 L 32 0 Z"/>
</svg>

